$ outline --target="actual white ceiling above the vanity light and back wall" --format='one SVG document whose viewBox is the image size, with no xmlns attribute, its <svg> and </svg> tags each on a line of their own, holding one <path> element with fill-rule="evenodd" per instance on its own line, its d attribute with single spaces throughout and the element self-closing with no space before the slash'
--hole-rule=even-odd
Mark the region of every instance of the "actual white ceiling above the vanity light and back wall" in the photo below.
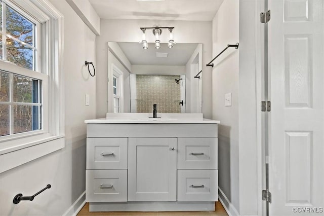
<svg viewBox="0 0 324 216">
<path fill-rule="evenodd" d="M 213 20 L 224 0 L 89 0 L 102 19 Z"/>
</svg>

